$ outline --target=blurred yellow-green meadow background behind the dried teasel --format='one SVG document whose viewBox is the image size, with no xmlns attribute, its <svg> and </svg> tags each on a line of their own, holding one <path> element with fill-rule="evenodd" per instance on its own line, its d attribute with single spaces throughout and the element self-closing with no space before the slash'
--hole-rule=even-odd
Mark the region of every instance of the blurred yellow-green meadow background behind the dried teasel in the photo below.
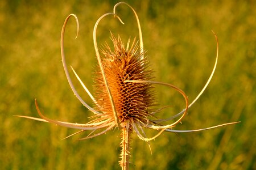
<svg viewBox="0 0 256 170">
<path fill-rule="evenodd" d="M 118 1 L 0 1 L 0 167 L 1 169 L 120 169 L 120 131 L 85 141 L 61 140 L 76 130 L 14 117 L 38 117 L 34 99 L 50 118 L 87 122 L 92 116 L 68 86 L 60 56 L 65 18 L 79 18 L 80 33 L 71 19 L 65 35 L 68 65 L 93 93 L 96 57 L 93 27 Z M 241 121 L 198 133 L 163 133 L 147 143 L 133 136 L 130 169 L 256 169 L 256 3 L 255 1 L 126 1 L 141 20 L 144 49 L 155 80 L 180 87 L 192 101 L 212 71 L 216 42 L 219 62 L 212 82 L 175 129 L 199 129 Z M 98 44 L 109 41 L 109 30 L 138 36 L 131 10 L 118 7 L 125 25 L 112 16 L 98 28 Z M 77 89 L 84 100 L 92 101 Z M 177 92 L 156 87 L 161 116 L 184 107 Z M 155 134 L 147 131 L 148 137 Z"/>
</svg>

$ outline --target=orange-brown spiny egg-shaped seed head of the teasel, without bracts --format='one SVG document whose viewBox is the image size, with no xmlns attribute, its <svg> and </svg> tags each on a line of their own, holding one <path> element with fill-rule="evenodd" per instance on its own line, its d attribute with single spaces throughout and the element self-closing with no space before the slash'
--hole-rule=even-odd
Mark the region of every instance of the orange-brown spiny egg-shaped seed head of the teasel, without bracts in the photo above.
<svg viewBox="0 0 256 170">
<path fill-rule="evenodd" d="M 147 69 L 147 59 L 142 58 L 141 49 L 135 39 L 130 48 L 129 42 L 125 48 L 119 36 L 115 38 L 112 35 L 112 41 L 114 50 L 110 49 L 108 44 L 101 50 L 104 55 L 102 66 L 112 92 L 119 122 L 122 125 L 126 120 L 130 120 L 146 125 L 148 109 L 154 104 L 152 85 L 124 81 L 150 80 L 152 71 Z M 97 109 L 103 113 L 102 116 L 113 117 L 109 96 L 100 71 L 96 72 L 95 82 L 96 100 L 100 105 Z"/>
</svg>

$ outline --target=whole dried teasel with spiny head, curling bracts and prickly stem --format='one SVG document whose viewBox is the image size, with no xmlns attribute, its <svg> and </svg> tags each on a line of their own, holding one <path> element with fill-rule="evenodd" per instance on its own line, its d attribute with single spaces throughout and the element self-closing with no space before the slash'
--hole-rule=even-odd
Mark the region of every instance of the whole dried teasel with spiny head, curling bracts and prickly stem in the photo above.
<svg viewBox="0 0 256 170">
<path fill-rule="evenodd" d="M 125 4 L 133 10 L 135 18 L 137 19 L 137 25 L 139 30 L 139 42 L 135 39 L 130 45 L 130 39 L 125 46 L 121 41 L 121 38 L 118 36 L 117 38 L 111 33 L 111 39 L 113 41 L 114 50 L 112 50 L 108 44 L 101 49 L 102 55 L 97 47 L 96 41 L 96 32 L 98 23 L 107 15 L 113 15 L 117 18 L 122 24 L 121 18 L 116 14 L 115 8 L 118 5 Z M 204 88 L 201 90 L 199 95 L 197 95 L 196 99 L 192 101 L 191 104 L 188 104 L 188 98 L 185 93 L 179 88 L 173 86 L 172 84 L 162 83 L 162 82 L 154 82 L 152 81 L 152 71 L 148 69 L 148 61 L 147 57 L 144 56 L 143 49 L 143 40 L 142 40 L 142 32 L 141 25 L 139 23 L 139 19 L 137 13 L 125 2 L 119 2 L 114 6 L 113 13 L 106 13 L 102 15 L 96 22 L 93 31 L 93 41 L 94 48 L 96 51 L 96 57 L 98 60 L 98 70 L 96 71 L 96 97 L 94 98 L 92 94 L 90 94 L 89 90 L 86 88 L 82 80 L 79 78 L 75 70 L 71 67 L 73 73 L 76 75 L 76 78 L 81 83 L 81 86 L 93 100 L 94 107 L 90 107 L 88 104 L 82 100 L 82 97 L 77 93 L 75 87 L 73 86 L 72 80 L 69 76 L 67 65 L 65 63 L 65 54 L 64 54 L 64 32 L 66 24 L 69 18 L 74 17 L 77 23 L 77 35 L 79 32 L 79 22 L 74 14 L 70 14 L 64 22 L 62 31 L 61 31 L 61 57 L 63 61 L 63 67 L 65 70 L 65 75 L 67 76 L 69 85 L 71 86 L 72 91 L 75 93 L 75 96 L 80 100 L 80 102 L 89 109 L 89 111 L 93 112 L 95 115 L 92 117 L 92 121 L 86 124 L 74 124 L 70 122 L 56 121 L 44 116 L 38 107 L 38 103 L 35 100 L 36 109 L 41 118 L 29 117 L 29 116 L 19 116 L 24 118 L 30 118 L 32 120 L 43 121 L 43 122 L 51 122 L 52 124 L 65 126 L 67 128 L 80 129 L 77 133 L 80 133 L 85 130 L 91 130 L 92 132 L 85 138 L 89 139 L 96 137 L 98 135 L 104 134 L 107 131 L 118 128 L 122 133 L 122 141 L 121 141 L 121 160 L 119 161 L 119 165 L 122 169 L 129 168 L 129 157 L 130 157 L 130 136 L 135 132 L 139 139 L 143 141 L 151 141 L 155 139 L 163 131 L 175 132 L 175 133 L 183 133 L 183 132 L 192 132 L 192 131 L 202 131 L 217 128 L 220 126 L 236 124 L 238 122 L 232 122 L 228 124 L 222 124 L 217 126 L 212 126 L 210 128 L 205 129 L 196 129 L 196 130 L 174 130 L 175 125 L 177 125 L 187 113 L 188 108 L 190 108 L 197 99 L 203 94 L 205 88 L 207 88 L 214 71 L 217 66 L 218 60 L 218 40 L 217 36 L 213 32 L 216 42 L 217 42 L 217 54 L 216 61 L 214 63 L 214 67 L 210 77 L 205 84 Z M 77 37 L 77 36 L 76 36 Z M 101 59 L 102 58 L 102 59 Z M 154 86 L 155 84 L 167 86 L 170 88 L 174 88 L 177 92 L 183 95 L 185 100 L 185 109 L 180 113 L 177 113 L 175 116 L 171 116 L 165 119 L 156 118 L 155 114 L 159 113 L 163 108 L 158 110 L 152 109 L 152 106 L 155 105 L 154 101 Z M 179 117 L 179 118 L 177 118 Z M 163 125 L 163 122 L 174 120 L 172 124 Z M 146 137 L 144 133 L 144 128 L 157 130 L 158 133 L 150 138 Z M 101 130 L 96 133 L 96 130 Z M 77 134 L 75 133 L 75 134 Z M 74 135 L 74 134 L 72 134 Z M 71 137 L 69 135 L 68 137 Z M 67 138 L 68 138 L 67 137 Z M 148 144 L 149 145 L 149 144 Z M 150 146 L 150 145 L 149 145 Z"/>
</svg>

